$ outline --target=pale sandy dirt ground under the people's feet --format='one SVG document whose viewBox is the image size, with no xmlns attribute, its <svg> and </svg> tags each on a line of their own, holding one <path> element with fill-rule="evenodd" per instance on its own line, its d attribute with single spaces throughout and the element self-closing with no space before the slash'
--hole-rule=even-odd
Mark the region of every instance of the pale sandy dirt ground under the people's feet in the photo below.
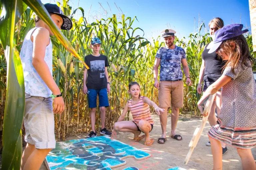
<svg viewBox="0 0 256 170">
<path fill-rule="evenodd" d="M 131 139 L 133 138 L 133 134 L 129 132 L 118 132 L 117 140 L 129 144 L 135 148 L 142 149 L 152 156 L 137 161 L 134 158 L 125 158 L 126 165 L 113 168 L 115 170 L 121 170 L 126 167 L 138 167 L 139 169 L 163 169 L 167 170 L 171 167 L 180 166 L 185 169 L 190 170 L 201 170 L 201 169 L 212 169 L 213 168 L 213 159 L 211 153 L 211 147 L 206 146 L 205 143 L 209 141 L 207 132 L 210 129 L 210 125 L 207 122 L 206 126 L 203 130 L 203 133 L 199 139 L 197 147 L 194 149 L 193 154 L 190 158 L 189 163 L 185 166 L 184 159 L 189 151 L 189 142 L 193 136 L 193 133 L 197 127 L 200 126 L 201 120 L 200 118 L 190 118 L 180 116 L 179 121 L 176 128 L 176 133 L 180 134 L 183 140 L 178 141 L 169 137 L 171 132 L 171 115 L 168 115 L 168 123 L 167 123 L 167 141 L 165 144 L 157 143 L 157 139 L 160 137 L 162 130 L 159 117 L 157 115 L 152 115 L 154 119 L 154 127 L 150 132 L 150 137 L 154 138 L 154 143 L 151 146 L 145 146 L 144 141 L 141 140 L 139 142 L 133 142 Z M 83 133 L 78 136 L 68 137 L 66 140 L 84 138 L 88 133 Z M 142 133 L 143 134 L 143 133 Z M 97 133 L 97 135 L 99 135 Z M 223 170 L 233 170 L 233 169 L 242 169 L 241 159 L 236 152 L 236 148 L 231 146 L 228 147 L 228 152 L 223 155 Z M 253 156 L 256 160 L 256 149 L 252 149 Z M 40 170 L 46 170 L 46 166 L 43 163 Z"/>
</svg>

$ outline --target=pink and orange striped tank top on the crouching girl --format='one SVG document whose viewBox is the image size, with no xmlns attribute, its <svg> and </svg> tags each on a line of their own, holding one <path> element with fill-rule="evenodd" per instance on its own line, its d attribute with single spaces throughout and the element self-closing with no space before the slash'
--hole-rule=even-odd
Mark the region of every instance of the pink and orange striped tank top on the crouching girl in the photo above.
<svg viewBox="0 0 256 170">
<path fill-rule="evenodd" d="M 144 96 L 140 97 L 138 103 L 132 105 L 132 100 L 128 101 L 130 111 L 132 113 L 133 122 L 138 126 L 139 121 L 145 120 L 150 124 L 154 125 L 154 121 L 151 118 L 149 105 L 147 103 L 143 103 L 142 99 Z"/>
</svg>

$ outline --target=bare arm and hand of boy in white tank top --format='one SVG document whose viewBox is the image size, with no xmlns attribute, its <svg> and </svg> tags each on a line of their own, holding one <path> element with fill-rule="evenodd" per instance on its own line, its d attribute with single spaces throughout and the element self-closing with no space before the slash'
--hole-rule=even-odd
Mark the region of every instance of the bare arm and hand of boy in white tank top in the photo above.
<svg viewBox="0 0 256 170">
<path fill-rule="evenodd" d="M 33 32 L 31 36 L 31 40 L 33 42 L 32 65 L 47 87 L 52 91 L 53 95 L 60 95 L 59 87 L 55 83 L 49 67 L 44 60 L 46 46 L 50 42 L 49 39 L 49 31 L 46 28 L 38 28 Z M 64 107 L 62 97 L 57 97 L 54 99 L 54 113 L 62 113 Z"/>
</svg>

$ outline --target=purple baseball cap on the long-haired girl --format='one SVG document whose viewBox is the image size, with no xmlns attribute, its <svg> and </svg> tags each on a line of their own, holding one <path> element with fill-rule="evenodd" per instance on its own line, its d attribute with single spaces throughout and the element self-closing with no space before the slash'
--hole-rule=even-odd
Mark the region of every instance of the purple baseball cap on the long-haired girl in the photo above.
<svg viewBox="0 0 256 170">
<path fill-rule="evenodd" d="M 243 29 L 243 24 L 230 24 L 230 25 L 225 25 L 221 29 L 217 30 L 214 33 L 213 42 L 207 46 L 208 49 L 210 48 L 208 53 L 212 53 L 216 51 L 223 41 L 240 36 L 249 31 L 248 29 L 245 29 L 245 30 L 242 30 L 242 29 Z"/>
</svg>

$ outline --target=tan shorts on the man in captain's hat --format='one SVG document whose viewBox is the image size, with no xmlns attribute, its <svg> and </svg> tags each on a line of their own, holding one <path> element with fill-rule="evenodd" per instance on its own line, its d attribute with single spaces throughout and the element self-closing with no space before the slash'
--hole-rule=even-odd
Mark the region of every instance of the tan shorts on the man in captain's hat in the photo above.
<svg viewBox="0 0 256 170">
<path fill-rule="evenodd" d="M 158 100 L 160 108 L 183 108 L 183 81 L 160 81 Z"/>
</svg>

